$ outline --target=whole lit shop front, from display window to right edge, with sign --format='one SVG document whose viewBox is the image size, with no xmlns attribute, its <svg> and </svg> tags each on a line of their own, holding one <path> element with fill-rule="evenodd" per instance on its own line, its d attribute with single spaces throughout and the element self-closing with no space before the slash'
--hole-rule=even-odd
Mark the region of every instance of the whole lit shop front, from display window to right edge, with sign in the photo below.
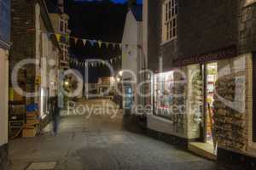
<svg viewBox="0 0 256 170">
<path fill-rule="evenodd" d="M 174 61 L 175 69 L 154 75 L 148 128 L 210 159 L 222 150 L 247 153 L 253 145 L 252 59 L 230 47 Z"/>
</svg>

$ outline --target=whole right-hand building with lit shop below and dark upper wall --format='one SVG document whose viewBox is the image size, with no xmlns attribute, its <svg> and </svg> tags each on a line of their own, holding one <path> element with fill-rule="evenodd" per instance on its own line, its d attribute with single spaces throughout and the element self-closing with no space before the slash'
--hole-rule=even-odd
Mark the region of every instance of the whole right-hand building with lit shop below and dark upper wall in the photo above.
<svg viewBox="0 0 256 170">
<path fill-rule="evenodd" d="M 148 133 L 196 154 L 206 151 L 209 158 L 253 168 L 256 2 L 143 4 L 143 53 L 154 71 Z"/>
</svg>

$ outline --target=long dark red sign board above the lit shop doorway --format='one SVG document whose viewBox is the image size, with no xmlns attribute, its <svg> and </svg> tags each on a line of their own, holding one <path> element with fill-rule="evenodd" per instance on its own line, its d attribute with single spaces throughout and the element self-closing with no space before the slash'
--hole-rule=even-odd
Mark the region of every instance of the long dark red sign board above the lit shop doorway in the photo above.
<svg viewBox="0 0 256 170">
<path fill-rule="evenodd" d="M 184 59 L 174 59 L 173 65 L 174 66 L 192 65 L 192 64 L 206 63 L 209 61 L 216 61 L 219 59 L 228 59 L 232 57 L 236 57 L 235 46 L 231 46 L 229 48 L 223 48 L 218 51 L 212 51 L 209 54 L 195 55 L 195 56 L 184 58 Z"/>
</svg>

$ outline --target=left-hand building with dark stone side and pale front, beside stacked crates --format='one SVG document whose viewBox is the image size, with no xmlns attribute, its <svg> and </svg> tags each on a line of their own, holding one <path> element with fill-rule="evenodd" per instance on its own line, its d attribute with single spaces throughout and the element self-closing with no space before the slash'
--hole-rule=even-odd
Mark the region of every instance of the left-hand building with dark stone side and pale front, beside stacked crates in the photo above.
<svg viewBox="0 0 256 170">
<path fill-rule="evenodd" d="M 61 48 L 44 0 L 32 0 L 29 3 L 25 0 L 12 0 L 11 8 L 13 46 L 10 71 L 14 74 L 21 61 L 27 62 L 21 65 L 18 80 L 10 84 L 15 94 L 12 94 L 12 102 L 38 105 L 40 119 L 44 121 L 49 115 L 49 96 L 57 93 Z M 15 75 L 11 75 L 11 78 L 15 78 Z M 12 111 L 10 114 L 13 114 Z"/>
</svg>

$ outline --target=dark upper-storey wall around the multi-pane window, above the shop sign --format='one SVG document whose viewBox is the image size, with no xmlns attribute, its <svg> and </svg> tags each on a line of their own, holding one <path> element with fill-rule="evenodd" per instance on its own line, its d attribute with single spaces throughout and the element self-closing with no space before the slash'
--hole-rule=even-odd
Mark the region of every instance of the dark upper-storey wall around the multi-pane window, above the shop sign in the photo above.
<svg viewBox="0 0 256 170">
<path fill-rule="evenodd" d="M 238 0 L 179 0 L 177 39 L 161 43 L 162 3 L 148 0 L 148 68 L 156 71 L 159 58 L 164 70 L 172 69 L 173 59 L 238 44 Z"/>
</svg>

